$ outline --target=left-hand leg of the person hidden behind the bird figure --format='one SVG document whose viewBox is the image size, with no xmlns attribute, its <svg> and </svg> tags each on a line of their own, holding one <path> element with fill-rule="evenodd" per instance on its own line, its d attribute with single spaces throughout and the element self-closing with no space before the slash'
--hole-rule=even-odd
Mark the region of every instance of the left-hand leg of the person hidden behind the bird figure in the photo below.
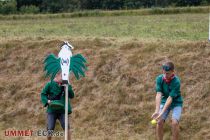
<svg viewBox="0 0 210 140">
<path fill-rule="evenodd" d="M 53 133 L 53 130 L 55 128 L 55 122 L 56 122 L 56 116 L 54 113 L 47 113 L 47 140 L 51 140 L 51 136 Z"/>
</svg>

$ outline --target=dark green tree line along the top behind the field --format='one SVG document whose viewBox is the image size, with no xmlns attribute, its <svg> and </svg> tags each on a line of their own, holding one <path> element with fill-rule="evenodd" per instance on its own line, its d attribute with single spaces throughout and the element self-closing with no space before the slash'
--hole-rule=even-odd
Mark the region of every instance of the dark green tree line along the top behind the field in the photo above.
<svg viewBox="0 0 210 140">
<path fill-rule="evenodd" d="M 210 0 L 0 0 L 1 14 L 209 5 Z"/>
</svg>

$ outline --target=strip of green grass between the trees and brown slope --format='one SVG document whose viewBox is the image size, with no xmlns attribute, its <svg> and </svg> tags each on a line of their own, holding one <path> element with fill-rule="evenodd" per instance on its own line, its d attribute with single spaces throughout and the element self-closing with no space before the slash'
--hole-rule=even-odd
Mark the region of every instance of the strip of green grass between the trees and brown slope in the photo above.
<svg viewBox="0 0 210 140">
<path fill-rule="evenodd" d="M 0 20 L 0 39 L 208 39 L 208 14 Z"/>
</svg>

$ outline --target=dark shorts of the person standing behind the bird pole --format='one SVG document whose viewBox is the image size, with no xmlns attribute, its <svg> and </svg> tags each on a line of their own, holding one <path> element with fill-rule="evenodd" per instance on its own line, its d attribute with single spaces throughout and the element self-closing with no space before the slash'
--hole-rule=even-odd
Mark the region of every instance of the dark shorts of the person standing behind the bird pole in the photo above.
<svg viewBox="0 0 210 140">
<path fill-rule="evenodd" d="M 63 113 L 47 113 L 47 130 L 54 130 L 56 120 L 59 120 L 63 130 L 65 129 L 65 114 Z M 69 121 L 68 121 L 69 122 Z M 69 123 L 68 123 L 68 128 Z"/>
</svg>

